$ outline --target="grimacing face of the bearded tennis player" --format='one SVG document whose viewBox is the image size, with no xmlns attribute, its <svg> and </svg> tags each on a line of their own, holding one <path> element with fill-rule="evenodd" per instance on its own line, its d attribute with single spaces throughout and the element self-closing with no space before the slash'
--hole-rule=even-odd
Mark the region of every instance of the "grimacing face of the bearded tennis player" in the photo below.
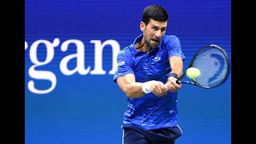
<svg viewBox="0 0 256 144">
<path fill-rule="evenodd" d="M 162 37 L 166 34 L 167 22 L 158 22 L 150 19 L 150 22 L 146 26 L 144 22 L 141 22 L 141 30 L 143 31 L 143 38 L 146 46 L 156 48 L 159 46 Z"/>
</svg>

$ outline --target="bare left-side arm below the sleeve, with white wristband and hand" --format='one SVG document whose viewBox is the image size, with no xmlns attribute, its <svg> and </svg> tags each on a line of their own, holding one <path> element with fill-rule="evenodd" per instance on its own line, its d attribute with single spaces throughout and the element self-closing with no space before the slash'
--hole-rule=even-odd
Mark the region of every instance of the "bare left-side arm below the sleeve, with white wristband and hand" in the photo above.
<svg viewBox="0 0 256 144">
<path fill-rule="evenodd" d="M 142 90 L 142 85 L 148 85 L 148 89 L 157 96 L 167 94 L 166 87 L 162 82 L 136 82 L 134 74 L 126 74 L 117 79 L 118 86 L 128 98 L 141 98 L 146 93 Z"/>
</svg>

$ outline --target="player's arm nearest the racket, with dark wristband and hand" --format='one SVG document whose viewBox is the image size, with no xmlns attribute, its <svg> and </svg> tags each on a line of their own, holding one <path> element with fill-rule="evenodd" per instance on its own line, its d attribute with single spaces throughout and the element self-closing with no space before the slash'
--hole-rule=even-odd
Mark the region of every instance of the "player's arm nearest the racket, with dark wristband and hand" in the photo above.
<svg viewBox="0 0 256 144">
<path fill-rule="evenodd" d="M 182 87 L 182 85 L 177 84 L 176 81 L 178 80 L 177 78 L 180 78 L 183 74 L 183 60 L 179 56 L 172 56 L 169 58 L 169 62 L 171 71 L 170 77 L 166 82 L 166 89 L 174 92 Z M 175 74 L 177 74 L 177 78 L 175 78 Z"/>
</svg>

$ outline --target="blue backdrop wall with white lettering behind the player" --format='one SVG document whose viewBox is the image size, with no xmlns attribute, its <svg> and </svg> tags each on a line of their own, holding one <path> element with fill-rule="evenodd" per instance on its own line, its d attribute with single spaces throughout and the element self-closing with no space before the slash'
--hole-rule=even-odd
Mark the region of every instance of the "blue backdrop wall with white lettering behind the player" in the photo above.
<svg viewBox="0 0 256 144">
<path fill-rule="evenodd" d="M 180 38 L 185 67 L 209 44 L 231 61 L 230 0 L 26 0 L 26 144 L 122 143 L 126 96 L 113 82 L 115 57 L 141 34 L 150 4 L 169 12 L 166 34 Z M 231 143 L 230 78 L 210 90 L 182 86 L 176 143 Z"/>
</svg>

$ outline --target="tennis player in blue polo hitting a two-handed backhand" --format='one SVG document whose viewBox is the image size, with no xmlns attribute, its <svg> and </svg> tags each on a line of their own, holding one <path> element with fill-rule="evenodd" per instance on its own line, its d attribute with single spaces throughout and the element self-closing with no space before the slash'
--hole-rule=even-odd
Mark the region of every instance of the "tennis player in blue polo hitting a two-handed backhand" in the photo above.
<svg viewBox="0 0 256 144">
<path fill-rule="evenodd" d="M 168 14 L 162 6 L 143 10 L 142 34 L 118 53 L 114 82 L 126 94 L 124 144 L 174 144 L 178 126 L 177 95 L 182 87 L 184 54 L 175 35 L 165 35 Z"/>
</svg>

